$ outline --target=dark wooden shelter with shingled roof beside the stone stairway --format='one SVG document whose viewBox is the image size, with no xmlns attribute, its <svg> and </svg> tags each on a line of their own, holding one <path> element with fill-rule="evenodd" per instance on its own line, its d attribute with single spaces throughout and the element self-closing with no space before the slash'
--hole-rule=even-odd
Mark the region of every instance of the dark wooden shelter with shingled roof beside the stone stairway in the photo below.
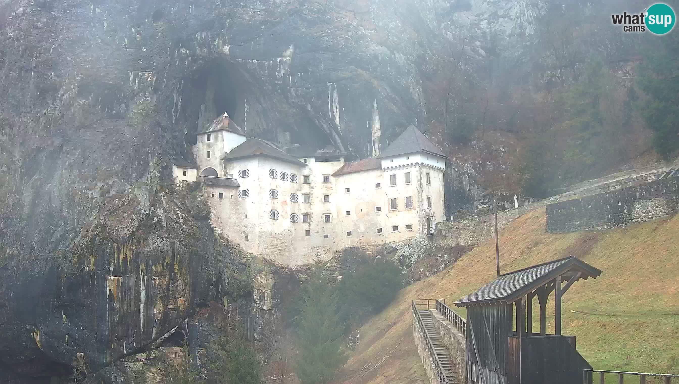
<svg viewBox="0 0 679 384">
<path fill-rule="evenodd" d="M 591 369 L 575 349 L 575 336 L 561 334 L 561 298 L 580 279 L 601 270 L 570 256 L 500 275 L 455 305 L 466 307 L 466 372 L 469 383 L 571 384 Z M 565 284 L 564 284 L 565 282 Z M 549 294 L 555 292 L 555 334 L 546 332 Z M 533 332 L 538 297 L 540 332 Z M 516 313 L 513 329 L 513 311 Z"/>
</svg>

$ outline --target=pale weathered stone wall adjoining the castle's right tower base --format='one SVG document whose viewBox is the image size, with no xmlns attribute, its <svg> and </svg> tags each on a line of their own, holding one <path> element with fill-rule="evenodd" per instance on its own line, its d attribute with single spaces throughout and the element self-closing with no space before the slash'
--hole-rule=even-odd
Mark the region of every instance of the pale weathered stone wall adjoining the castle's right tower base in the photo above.
<svg viewBox="0 0 679 384">
<path fill-rule="evenodd" d="M 521 215 L 528 213 L 532 209 L 545 205 L 545 200 L 538 201 L 518 207 L 498 212 L 498 230 L 511 224 Z M 462 220 L 450 220 L 436 224 L 434 234 L 435 245 L 477 245 L 492 239 L 495 231 L 495 221 L 493 213 L 488 215 L 469 217 Z"/>
</svg>

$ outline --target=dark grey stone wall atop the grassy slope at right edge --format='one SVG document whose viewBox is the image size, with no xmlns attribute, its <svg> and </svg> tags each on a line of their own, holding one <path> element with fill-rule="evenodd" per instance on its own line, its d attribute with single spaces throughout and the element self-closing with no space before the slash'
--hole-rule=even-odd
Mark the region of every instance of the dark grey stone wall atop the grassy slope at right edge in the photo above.
<svg viewBox="0 0 679 384">
<path fill-rule="evenodd" d="M 604 230 L 676 213 L 679 177 L 547 205 L 547 232 Z"/>
</svg>

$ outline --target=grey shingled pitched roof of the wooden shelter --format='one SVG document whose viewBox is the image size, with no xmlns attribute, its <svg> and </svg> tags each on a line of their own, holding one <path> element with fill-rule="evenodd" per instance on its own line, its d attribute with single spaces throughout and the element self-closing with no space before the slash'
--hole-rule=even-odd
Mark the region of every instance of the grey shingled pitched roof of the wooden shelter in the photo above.
<svg viewBox="0 0 679 384">
<path fill-rule="evenodd" d="M 596 279 L 602 274 L 601 270 L 594 268 L 579 258 L 568 256 L 568 258 L 504 273 L 494 281 L 483 285 L 473 294 L 466 295 L 456 301 L 455 305 L 457 307 L 466 307 L 470 304 L 514 302 L 556 277 L 571 277 L 578 272 L 581 273 L 579 279 L 585 280 L 589 279 L 589 277 Z"/>
</svg>

